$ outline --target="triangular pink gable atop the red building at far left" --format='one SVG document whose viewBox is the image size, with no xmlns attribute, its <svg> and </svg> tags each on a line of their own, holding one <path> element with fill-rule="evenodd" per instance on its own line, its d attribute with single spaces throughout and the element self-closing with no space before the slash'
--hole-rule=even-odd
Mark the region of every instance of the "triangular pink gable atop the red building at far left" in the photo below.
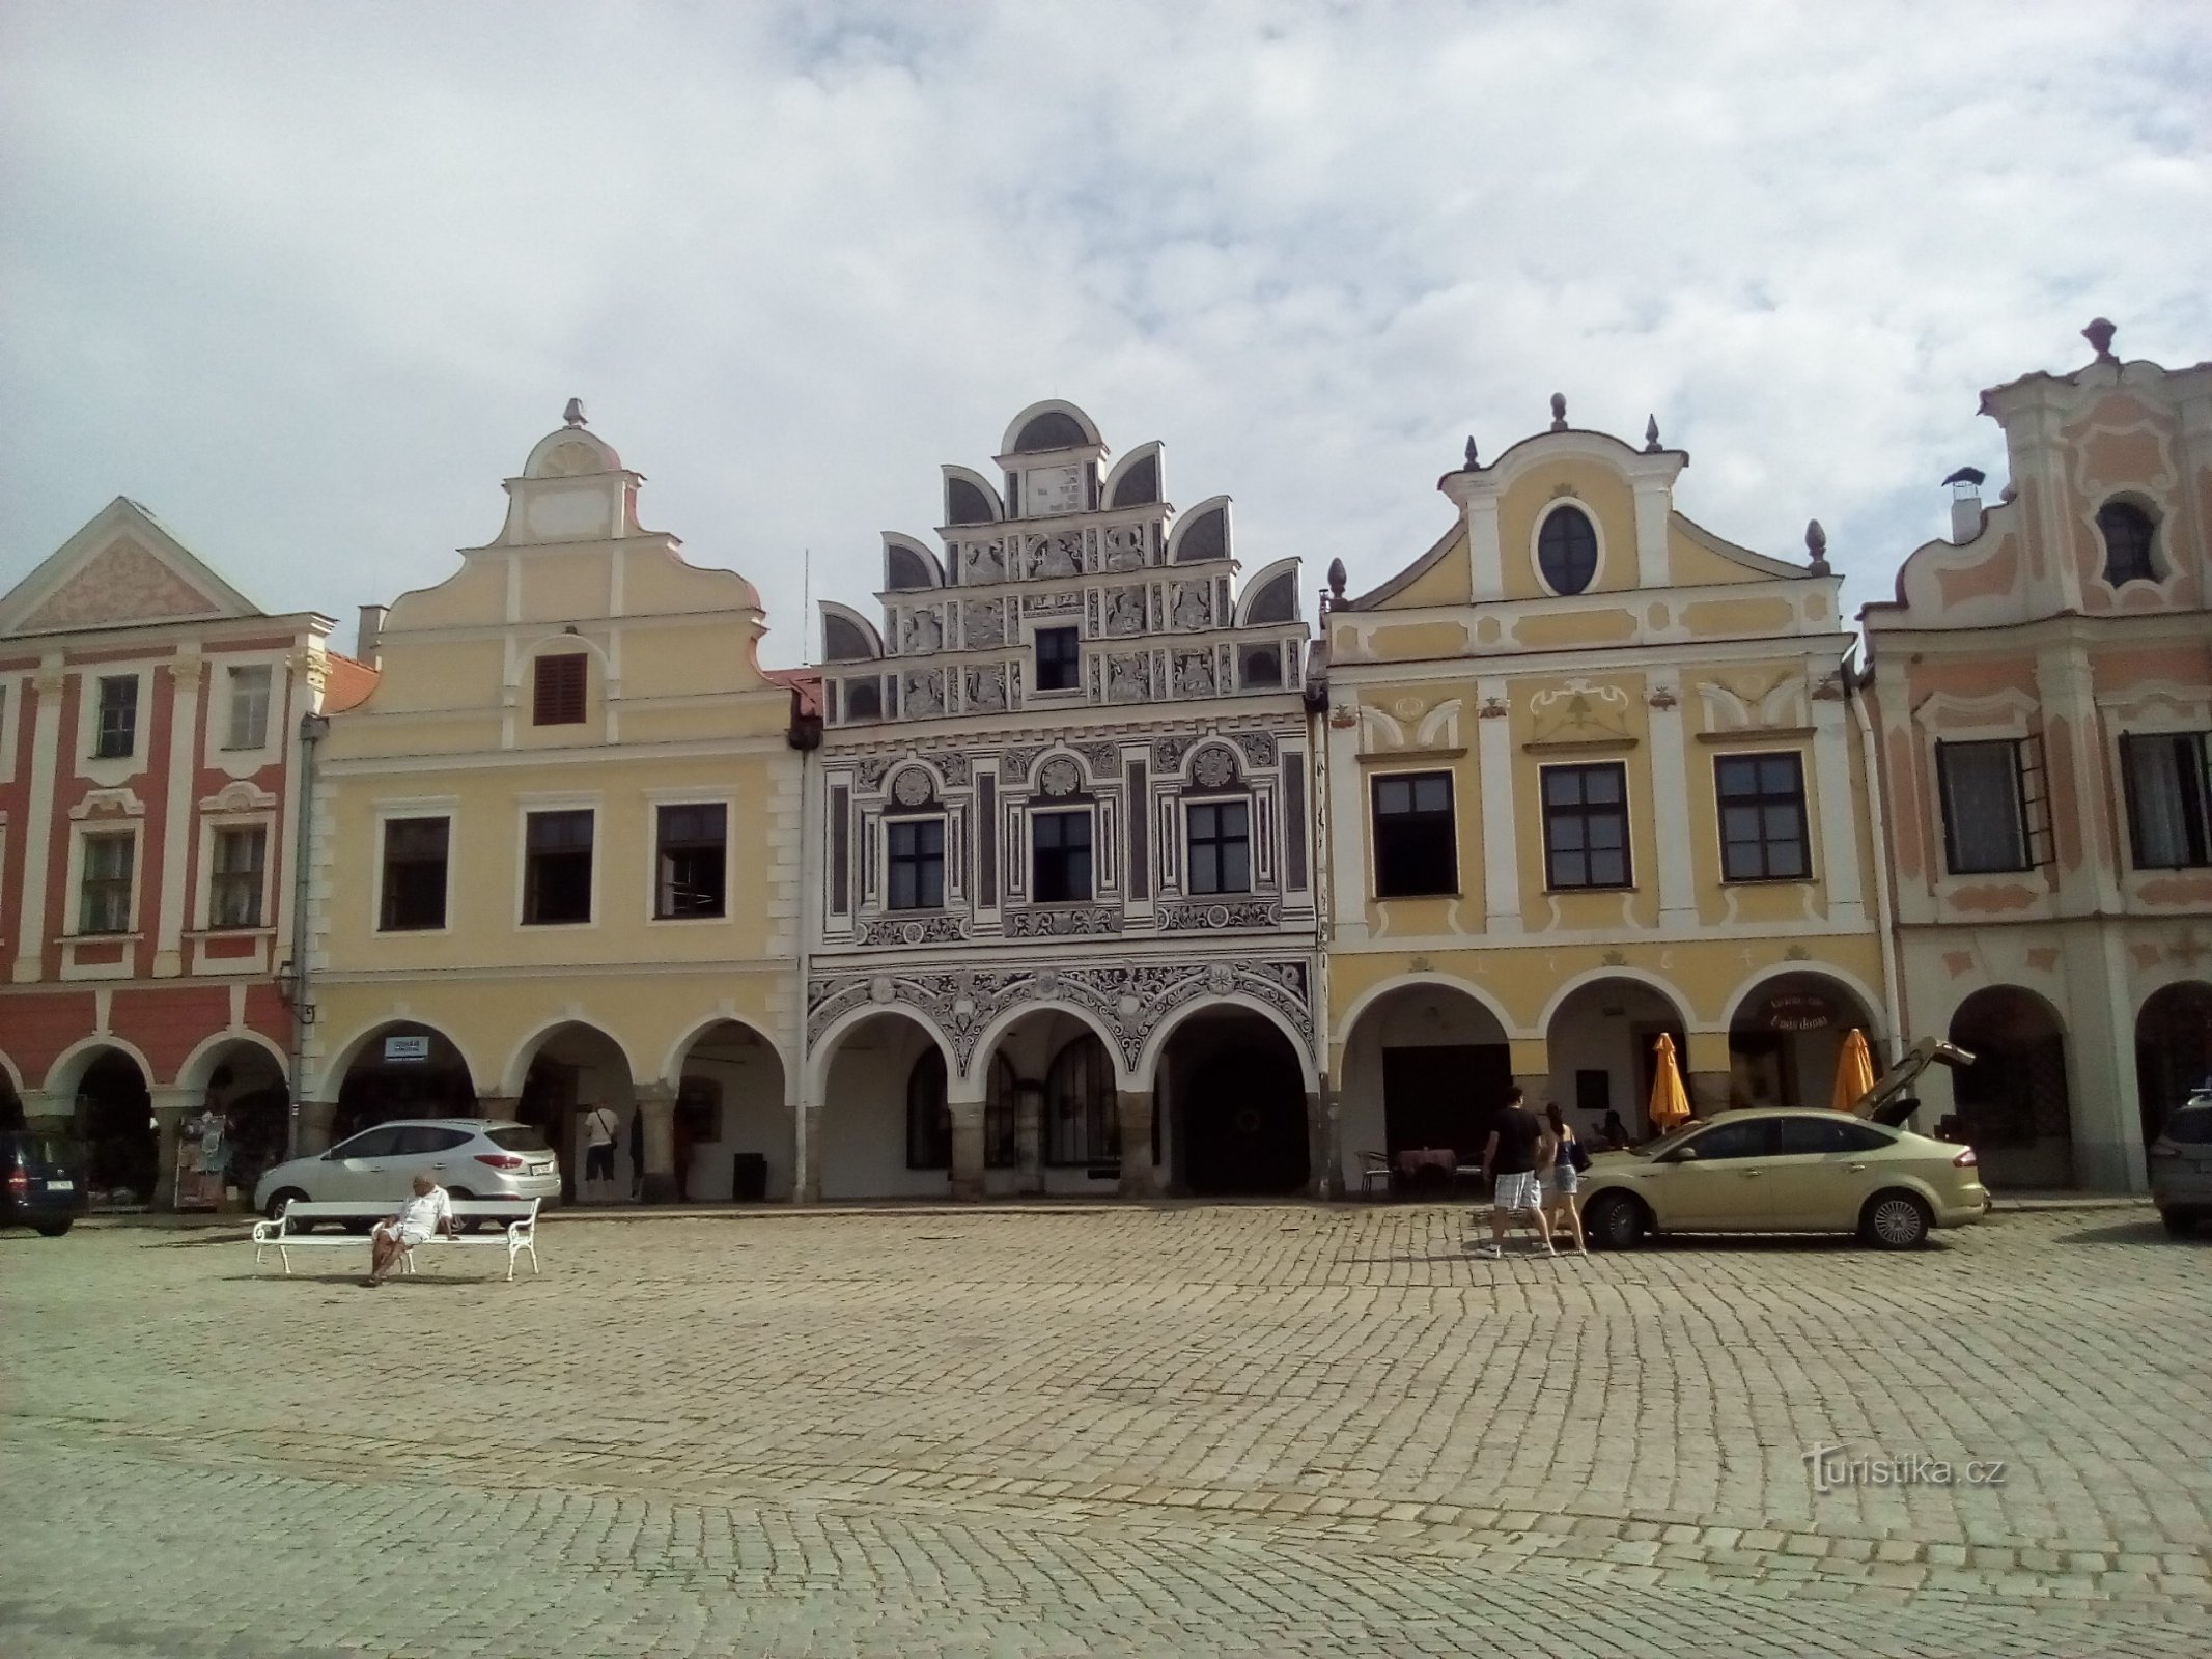
<svg viewBox="0 0 2212 1659">
<path fill-rule="evenodd" d="M 117 495 L 0 597 L 0 635 L 257 615 L 144 507 Z"/>
</svg>

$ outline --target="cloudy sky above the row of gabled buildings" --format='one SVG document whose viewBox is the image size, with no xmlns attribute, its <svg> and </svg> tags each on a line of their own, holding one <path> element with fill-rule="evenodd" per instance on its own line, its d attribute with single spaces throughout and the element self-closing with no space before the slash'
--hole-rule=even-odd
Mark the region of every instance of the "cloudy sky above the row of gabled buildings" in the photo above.
<svg viewBox="0 0 2212 1659">
<path fill-rule="evenodd" d="M 2212 356 L 2194 0 L 0 9 L 0 586 L 126 493 L 349 619 L 582 396 L 796 661 L 1037 398 L 1360 588 L 1564 392 L 1856 606 L 2095 314 Z"/>
</svg>

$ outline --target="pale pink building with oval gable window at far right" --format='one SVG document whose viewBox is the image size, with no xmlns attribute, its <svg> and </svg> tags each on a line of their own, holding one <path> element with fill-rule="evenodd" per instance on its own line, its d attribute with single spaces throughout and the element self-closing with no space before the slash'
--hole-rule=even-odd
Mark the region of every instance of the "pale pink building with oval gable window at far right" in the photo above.
<svg viewBox="0 0 2212 1659">
<path fill-rule="evenodd" d="M 2141 1190 L 2212 1071 L 2212 363 L 1982 394 L 2011 482 L 1869 604 L 1905 1029 L 1991 1186 Z"/>
</svg>

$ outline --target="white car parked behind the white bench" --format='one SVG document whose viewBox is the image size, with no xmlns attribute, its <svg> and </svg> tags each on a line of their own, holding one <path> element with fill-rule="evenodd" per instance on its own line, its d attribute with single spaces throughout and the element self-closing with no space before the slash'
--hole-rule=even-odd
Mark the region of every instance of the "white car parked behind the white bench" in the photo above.
<svg viewBox="0 0 2212 1659">
<path fill-rule="evenodd" d="M 403 1117 L 274 1166 L 254 1186 L 254 1208 L 270 1221 L 294 1199 L 389 1199 L 398 1210 L 418 1175 L 456 1199 L 560 1199 L 560 1159 L 533 1124 Z"/>
</svg>

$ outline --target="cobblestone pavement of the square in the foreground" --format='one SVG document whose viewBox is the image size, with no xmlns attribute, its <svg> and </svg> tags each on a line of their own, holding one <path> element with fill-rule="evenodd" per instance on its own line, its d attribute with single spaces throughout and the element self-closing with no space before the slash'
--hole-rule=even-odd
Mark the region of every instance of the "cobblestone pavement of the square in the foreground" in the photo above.
<svg viewBox="0 0 2212 1659">
<path fill-rule="evenodd" d="M 0 1239 L 0 1652 L 2212 1650 L 2212 1241 L 2148 1210 L 1905 1256 L 1484 1263 L 1380 1206 L 542 1252 L 367 1292 L 234 1232 Z M 1953 1484 L 1820 1493 L 1818 1444 Z"/>
</svg>

